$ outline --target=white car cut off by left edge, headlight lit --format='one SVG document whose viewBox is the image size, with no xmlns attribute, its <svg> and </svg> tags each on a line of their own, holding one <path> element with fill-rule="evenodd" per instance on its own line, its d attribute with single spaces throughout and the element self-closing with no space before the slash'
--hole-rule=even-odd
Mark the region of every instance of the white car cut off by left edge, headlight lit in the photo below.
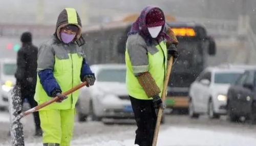
<svg viewBox="0 0 256 146">
<path fill-rule="evenodd" d="M 1 59 L 0 60 L 0 109 L 8 109 L 8 92 L 13 88 L 16 83 L 14 77 L 16 71 L 16 60 L 14 59 Z"/>
</svg>

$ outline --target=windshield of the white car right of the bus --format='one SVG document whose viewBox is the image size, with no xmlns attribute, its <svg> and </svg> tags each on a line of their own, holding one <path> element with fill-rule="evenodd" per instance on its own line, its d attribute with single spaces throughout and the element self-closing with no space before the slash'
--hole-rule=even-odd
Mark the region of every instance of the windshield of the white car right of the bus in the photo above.
<svg viewBox="0 0 256 146">
<path fill-rule="evenodd" d="M 214 82 L 217 84 L 232 84 L 241 75 L 240 72 L 221 72 L 216 73 Z"/>
</svg>

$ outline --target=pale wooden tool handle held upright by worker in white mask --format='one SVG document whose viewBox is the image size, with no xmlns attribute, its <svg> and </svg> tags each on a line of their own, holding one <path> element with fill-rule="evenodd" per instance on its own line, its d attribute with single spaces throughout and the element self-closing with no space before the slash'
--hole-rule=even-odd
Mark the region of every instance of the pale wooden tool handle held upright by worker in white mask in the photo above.
<svg viewBox="0 0 256 146">
<path fill-rule="evenodd" d="M 164 84 L 163 84 L 163 91 L 162 91 L 162 96 L 161 96 L 161 99 L 162 99 L 163 103 L 164 103 L 165 97 L 166 97 L 166 91 L 167 91 L 167 86 L 168 86 L 168 81 L 169 81 L 169 77 L 170 77 L 170 72 L 172 70 L 172 66 L 173 66 L 173 57 L 170 57 L 170 59 L 168 61 L 168 65 L 167 65 L 167 72 L 166 72 L 166 75 L 165 75 Z M 155 133 L 154 133 L 152 146 L 157 145 L 157 138 L 158 138 L 158 133 L 159 133 L 159 129 L 160 129 L 162 114 L 163 114 L 163 109 L 159 108 L 158 114 L 157 114 L 157 123 L 156 123 L 156 128 L 155 128 Z"/>
</svg>

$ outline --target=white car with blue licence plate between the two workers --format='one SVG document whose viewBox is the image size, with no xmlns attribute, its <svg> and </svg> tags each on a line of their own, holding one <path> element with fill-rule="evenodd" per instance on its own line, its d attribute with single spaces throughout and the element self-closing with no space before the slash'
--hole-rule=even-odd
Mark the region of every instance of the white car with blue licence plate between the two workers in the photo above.
<svg viewBox="0 0 256 146">
<path fill-rule="evenodd" d="M 101 121 L 102 118 L 134 119 L 131 101 L 125 87 L 125 64 L 92 65 L 94 86 L 80 89 L 76 110 L 79 121 Z M 164 114 L 161 120 L 164 123 Z"/>
</svg>

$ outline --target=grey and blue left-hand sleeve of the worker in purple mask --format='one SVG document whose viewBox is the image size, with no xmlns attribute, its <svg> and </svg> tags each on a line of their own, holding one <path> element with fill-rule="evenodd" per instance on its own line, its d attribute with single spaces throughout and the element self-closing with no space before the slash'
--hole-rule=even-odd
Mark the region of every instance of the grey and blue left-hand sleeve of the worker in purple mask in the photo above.
<svg viewBox="0 0 256 146">
<path fill-rule="evenodd" d="M 54 51 L 51 46 L 41 45 L 38 50 L 37 72 L 40 83 L 48 96 L 54 97 L 61 92 L 60 86 L 53 76 Z"/>
</svg>

